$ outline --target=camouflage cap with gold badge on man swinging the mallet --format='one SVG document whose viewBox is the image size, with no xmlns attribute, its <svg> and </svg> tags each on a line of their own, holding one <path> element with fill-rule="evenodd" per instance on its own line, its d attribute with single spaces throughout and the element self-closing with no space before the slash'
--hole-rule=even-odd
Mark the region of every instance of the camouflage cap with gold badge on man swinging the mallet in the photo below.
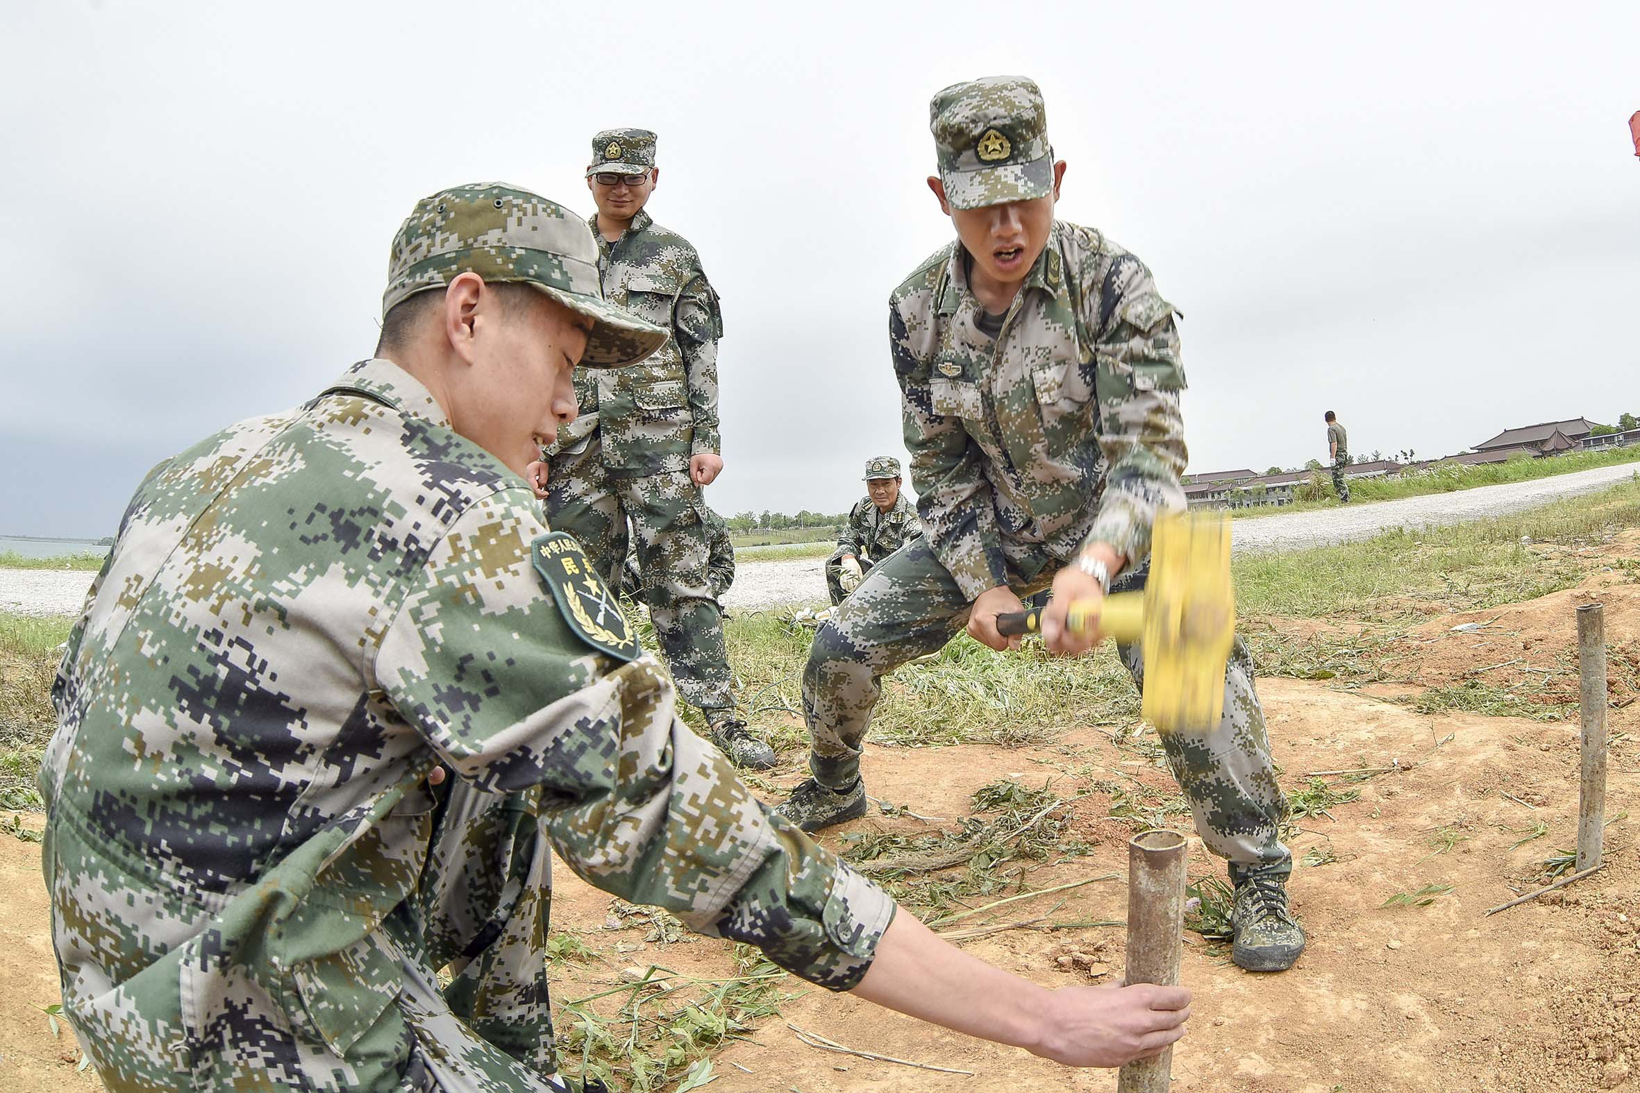
<svg viewBox="0 0 1640 1093">
<path fill-rule="evenodd" d="M 953 208 L 1030 202 L 1053 192 L 1041 88 L 1023 75 L 953 84 L 928 103 L 940 182 Z"/>
</svg>

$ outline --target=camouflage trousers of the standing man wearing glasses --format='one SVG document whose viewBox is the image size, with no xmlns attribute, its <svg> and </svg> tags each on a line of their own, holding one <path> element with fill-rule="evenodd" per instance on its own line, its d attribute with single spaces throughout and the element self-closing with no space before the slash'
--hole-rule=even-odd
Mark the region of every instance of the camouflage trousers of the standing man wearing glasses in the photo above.
<svg viewBox="0 0 1640 1093">
<path fill-rule="evenodd" d="M 689 472 L 613 477 L 604 469 L 604 447 L 594 433 L 584 451 L 553 456 L 546 488 L 548 526 L 576 536 L 610 588 L 622 583 L 631 521 L 649 621 L 677 693 L 708 719 L 718 710 L 731 710 L 704 503 Z"/>
</svg>

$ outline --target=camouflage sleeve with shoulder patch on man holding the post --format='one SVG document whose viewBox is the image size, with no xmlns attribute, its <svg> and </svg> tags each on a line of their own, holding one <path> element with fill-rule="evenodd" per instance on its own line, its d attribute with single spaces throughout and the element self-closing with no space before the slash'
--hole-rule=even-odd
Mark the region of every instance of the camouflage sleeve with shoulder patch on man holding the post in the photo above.
<svg viewBox="0 0 1640 1093">
<path fill-rule="evenodd" d="M 618 615 L 597 624 L 584 556 L 533 508 L 517 487 L 449 529 L 382 639 L 379 687 L 459 777 L 540 787 L 553 849 L 589 883 L 854 986 L 894 901 L 676 718 L 666 670 Z"/>
</svg>

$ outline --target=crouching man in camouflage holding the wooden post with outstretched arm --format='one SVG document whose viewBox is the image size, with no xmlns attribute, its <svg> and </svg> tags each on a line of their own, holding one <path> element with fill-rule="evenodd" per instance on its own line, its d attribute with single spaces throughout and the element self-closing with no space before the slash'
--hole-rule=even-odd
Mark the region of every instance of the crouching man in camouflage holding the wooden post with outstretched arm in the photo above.
<svg viewBox="0 0 1640 1093">
<path fill-rule="evenodd" d="M 576 362 L 666 339 L 602 300 L 582 221 L 435 193 L 382 308 L 374 359 L 149 472 L 62 655 L 43 860 L 64 1016 L 112 1093 L 567 1088 L 551 854 L 1066 1064 L 1182 1034 L 1186 990 L 1050 991 L 897 914 L 676 718 L 523 477 Z"/>
</svg>

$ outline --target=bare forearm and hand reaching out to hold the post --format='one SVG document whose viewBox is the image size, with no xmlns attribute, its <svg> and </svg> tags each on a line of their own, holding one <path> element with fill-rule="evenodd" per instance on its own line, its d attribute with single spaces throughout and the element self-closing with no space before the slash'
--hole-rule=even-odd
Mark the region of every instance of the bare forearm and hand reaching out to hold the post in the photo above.
<svg viewBox="0 0 1640 1093">
<path fill-rule="evenodd" d="M 1071 1067 L 1120 1067 L 1184 1036 L 1182 986 L 1048 990 L 973 957 L 910 914 L 889 926 L 854 995 Z"/>
</svg>

